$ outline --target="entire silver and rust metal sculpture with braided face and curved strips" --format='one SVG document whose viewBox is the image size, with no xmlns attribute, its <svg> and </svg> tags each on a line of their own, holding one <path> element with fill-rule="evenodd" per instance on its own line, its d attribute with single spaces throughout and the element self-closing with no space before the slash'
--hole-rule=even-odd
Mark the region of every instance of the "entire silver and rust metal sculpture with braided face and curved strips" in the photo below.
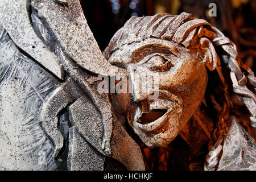
<svg viewBox="0 0 256 182">
<path fill-rule="evenodd" d="M 255 142 L 234 116 L 221 68 L 230 69 L 253 126 L 254 73 L 205 20 L 187 13 L 132 17 L 103 54 L 79 0 L 2 0 L 0 22 L 1 170 L 144 170 L 141 148 L 114 113 L 125 115 L 148 147 L 178 134 L 195 152 L 209 142 L 205 170 L 256 168 Z M 138 75 L 126 84 L 130 93 L 99 92 L 98 76 L 118 84 Z M 158 84 L 142 92 L 150 76 Z M 222 89 L 208 94 L 210 76 Z M 208 107 L 217 116 L 210 118 Z"/>
</svg>

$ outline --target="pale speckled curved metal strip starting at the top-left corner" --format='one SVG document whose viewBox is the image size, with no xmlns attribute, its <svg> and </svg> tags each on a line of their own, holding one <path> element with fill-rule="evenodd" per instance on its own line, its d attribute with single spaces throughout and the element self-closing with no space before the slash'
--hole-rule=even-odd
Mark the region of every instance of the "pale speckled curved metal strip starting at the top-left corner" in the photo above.
<svg viewBox="0 0 256 182">
<path fill-rule="evenodd" d="M 56 55 L 49 51 L 32 27 L 28 6 L 30 6 L 28 0 L 1 0 L 0 21 L 19 48 L 27 52 L 54 75 L 63 79 L 64 71 L 58 64 Z"/>
</svg>

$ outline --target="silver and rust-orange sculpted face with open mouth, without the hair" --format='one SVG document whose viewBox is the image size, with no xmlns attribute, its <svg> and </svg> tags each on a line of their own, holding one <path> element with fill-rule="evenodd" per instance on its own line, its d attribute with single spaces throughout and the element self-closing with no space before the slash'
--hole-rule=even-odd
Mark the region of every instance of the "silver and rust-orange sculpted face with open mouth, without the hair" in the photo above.
<svg viewBox="0 0 256 182">
<path fill-rule="evenodd" d="M 109 61 L 129 71 L 132 88 L 130 94 L 111 95 L 114 109 L 127 115 L 130 126 L 148 147 L 174 140 L 204 97 L 207 71 L 200 54 L 152 38 L 125 44 Z M 154 84 L 145 91 L 145 86 Z M 155 93 L 158 97 L 150 99 Z"/>
</svg>

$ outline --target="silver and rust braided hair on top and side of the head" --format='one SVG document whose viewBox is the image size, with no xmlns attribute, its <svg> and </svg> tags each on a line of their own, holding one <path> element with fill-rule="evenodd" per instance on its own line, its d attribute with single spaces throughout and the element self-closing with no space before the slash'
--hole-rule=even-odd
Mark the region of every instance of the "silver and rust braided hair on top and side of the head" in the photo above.
<svg viewBox="0 0 256 182">
<path fill-rule="evenodd" d="M 251 125 L 256 127 L 256 97 L 253 93 L 256 92 L 256 78 L 251 69 L 243 64 L 238 57 L 235 44 L 217 28 L 204 19 L 193 18 L 188 13 L 156 14 L 140 18 L 133 16 L 113 36 L 104 51 L 104 56 L 109 59 L 112 52 L 120 49 L 123 45 L 142 42 L 149 38 L 169 40 L 188 49 L 199 48 L 203 52 L 201 56 L 205 65 L 210 71 L 217 71 L 224 87 L 226 102 L 222 106 L 222 111 L 218 110 L 218 113 L 219 111 L 222 113 L 222 117 L 225 116 L 228 108 L 233 107 L 228 95 L 228 86 L 221 72 L 221 65 L 223 67 L 227 64 L 230 69 L 233 90 L 250 111 Z M 216 50 L 218 51 L 216 52 Z M 248 89 L 246 84 L 253 91 Z M 219 122 L 224 120 L 226 119 L 220 119 L 219 116 Z"/>
</svg>

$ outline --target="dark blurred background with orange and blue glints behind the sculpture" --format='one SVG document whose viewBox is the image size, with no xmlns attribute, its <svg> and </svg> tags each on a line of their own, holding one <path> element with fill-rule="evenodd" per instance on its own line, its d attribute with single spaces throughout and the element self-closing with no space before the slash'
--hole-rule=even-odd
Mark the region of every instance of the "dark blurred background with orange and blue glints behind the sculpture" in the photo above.
<svg viewBox="0 0 256 182">
<path fill-rule="evenodd" d="M 196 18 L 207 20 L 217 27 L 237 46 L 237 51 L 243 62 L 255 73 L 256 57 L 256 1 L 255 0 L 80 0 L 94 37 L 101 51 L 108 46 L 112 36 L 131 18 L 131 16 L 146 16 L 156 13 L 179 15 L 185 11 Z M 209 16 L 210 3 L 216 3 L 216 16 Z M 232 84 L 229 83 L 232 89 Z M 250 119 L 246 107 L 235 94 L 232 101 L 240 112 L 241 118 L 250 126 Z M 256 128 L 250 127 L 251 136 L 256 139 Z M 175 142 L 176 141 L 176 142 Z M 180 148 L 182 141 L 177 139 L 172 146 L 156 149 L 143 148 L 146 169 L 189 169 L 186 166 L 189 148 Z M 174 148 L 179 148 L 175 153 Z M 178 156 L 178 157 L 177 157 Z M 180 156 L 180 157 L 179 157 Z M 176 162 L 174 160 L 177 160 Z M 203 159 L 204 161 L 204 159 Z"/>
</svg>

